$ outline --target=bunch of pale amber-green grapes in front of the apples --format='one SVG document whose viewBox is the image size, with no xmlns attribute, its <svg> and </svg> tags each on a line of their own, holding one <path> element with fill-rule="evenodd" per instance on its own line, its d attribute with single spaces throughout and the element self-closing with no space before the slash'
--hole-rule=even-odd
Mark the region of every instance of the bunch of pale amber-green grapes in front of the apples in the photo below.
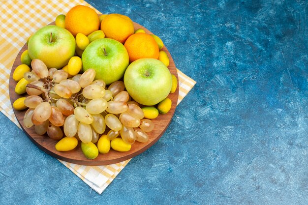
<svg viewBox="0 0 308 205">
<path fill-rule="evenodd" d="M 125 91 L 123 81 L 112 83 L 108 89 L 103 80 L 95 80 L 95 70 L 69 76 L 64 70 L 48 68 L 43 61 L 33 59 L 32 70 L 24 74 L 29 82 L 29 96 L 24 104 L 29 109 L 24 116 L 27 128 L 35 126 L 39 135 L 55 140 L 75 137 L 83 143 L 96 143 L 99 135 L 107 133 L 109 140 L 121 136 L 127 144 L 145 143 L 147 132 L 154 123 Z"/>
</svg>

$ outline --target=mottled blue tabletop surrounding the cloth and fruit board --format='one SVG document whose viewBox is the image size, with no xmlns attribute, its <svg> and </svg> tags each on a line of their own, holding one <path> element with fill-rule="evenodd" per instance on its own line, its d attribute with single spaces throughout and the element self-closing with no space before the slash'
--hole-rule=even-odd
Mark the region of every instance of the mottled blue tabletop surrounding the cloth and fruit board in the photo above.
<svg viewBox="0 0 308 205">
<path fill-rule="evenodd" d="M 101 194 L 0 115 L 0 204 L 308 204 L 307 0 L 88 0 L 161 37 L 197 84 Z"/>
</svg>

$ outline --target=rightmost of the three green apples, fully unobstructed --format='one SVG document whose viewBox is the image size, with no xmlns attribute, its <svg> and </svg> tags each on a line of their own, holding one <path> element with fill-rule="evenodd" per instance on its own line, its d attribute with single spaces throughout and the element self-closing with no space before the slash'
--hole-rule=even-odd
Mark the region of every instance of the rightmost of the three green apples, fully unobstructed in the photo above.
<svg viewBox="0 0 308 205">
<path fill-rule="evenodd" d="M 151 106 L 168 96 L 172 77 L 169 69 L 160 60 L 138 59 L 127 67 L 124 85 L 136 102 Z"/>
</svg>

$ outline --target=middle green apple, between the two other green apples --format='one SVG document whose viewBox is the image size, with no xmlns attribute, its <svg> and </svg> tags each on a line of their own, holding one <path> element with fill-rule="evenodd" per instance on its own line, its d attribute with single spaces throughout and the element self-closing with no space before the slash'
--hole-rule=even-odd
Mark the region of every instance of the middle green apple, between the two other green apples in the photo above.
<svg viewBox="0 0 308 205">
<path fill-rule="evenodd" d="M 104 80 L 106 85 L 120 80 L 129 63 L 123 44 L 110 38 L 92 41 L 81 59 L 83 70 L 93 68 L 96 71 L 95 79 Z"/>
</svg>

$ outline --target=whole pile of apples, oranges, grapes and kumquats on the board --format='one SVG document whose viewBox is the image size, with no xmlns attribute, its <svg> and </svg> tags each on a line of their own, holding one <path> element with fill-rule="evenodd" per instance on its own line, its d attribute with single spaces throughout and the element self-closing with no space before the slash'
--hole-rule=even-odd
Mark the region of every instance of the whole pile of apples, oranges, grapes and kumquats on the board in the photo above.
<svg viewBox="0 0 308 205">
<path fill-rule="evenodd" d="M 127 16 L 97 15 L 83 5 L 55 24 L 28 38 L 12 75 L 23 95 L 13 108 L 28 109 L 24 126 L 58 141 L 58 151 L 81 141 L 88 159 L 146 143 L 152 119 L 170 111 L 168 95 L 177 88 L 161 39 L 134 32 Z"/>
</svg>

